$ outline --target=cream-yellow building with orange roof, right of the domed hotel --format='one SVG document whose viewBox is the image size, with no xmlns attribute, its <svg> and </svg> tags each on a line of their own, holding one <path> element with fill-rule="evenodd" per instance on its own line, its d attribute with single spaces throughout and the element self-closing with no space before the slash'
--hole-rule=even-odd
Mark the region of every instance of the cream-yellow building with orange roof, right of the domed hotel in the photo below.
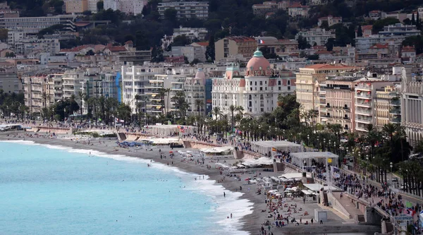
<svg viewBox="0 0 423 235">
<path fill-rule="evenodd" d="M 300 72 L 296 74 L 297 102 L 305 110 L 319 110 L 319 83 L 326 81 L 328 75 L 336 76 L 355 69 L 356 67 L 343 64 L 314 64 L 300 68 Z"/>
</svg>

